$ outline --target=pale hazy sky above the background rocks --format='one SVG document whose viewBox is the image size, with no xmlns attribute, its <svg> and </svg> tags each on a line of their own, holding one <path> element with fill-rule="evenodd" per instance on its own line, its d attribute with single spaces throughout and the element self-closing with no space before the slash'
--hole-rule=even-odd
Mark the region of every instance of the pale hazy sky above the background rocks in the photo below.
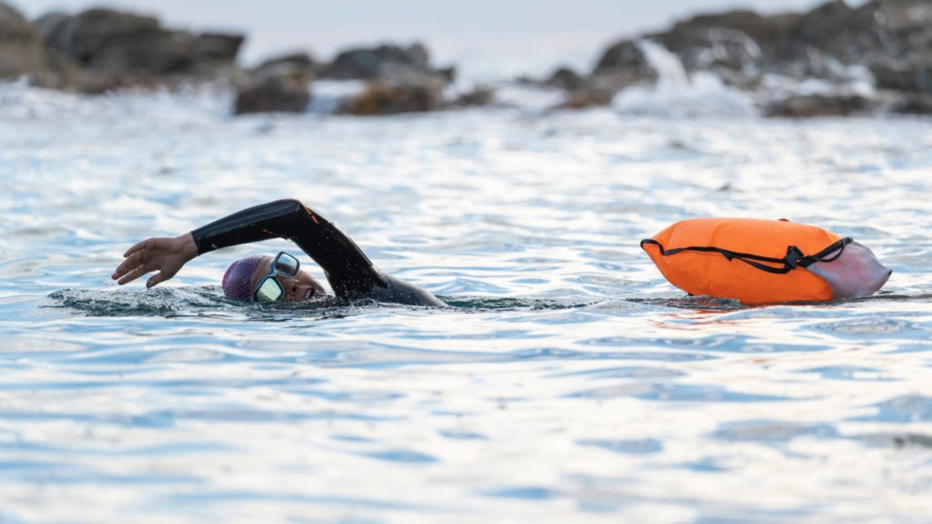
<svg viewBox="0 0 932 524">
<path fill-rule="evenodd" d="M 353 44 L 423 41 L 435 62 L 498 62 L 518 70 L 570 62 L 590 66 L 611 41 L 697 12 L 780 12 L 818 0 L 6 0 L 28 17 L 49 10 L 116 7 L 157 14 L 172 27 L 248 35 L 241 62 L 306 49 L 319 59 Z M 861 4 L 861 0 L 848 0 Z M 525 63 L 522 63 L 525 62 Z M 532 62 L 540 62 L 532 63 Z"/>
</svg>

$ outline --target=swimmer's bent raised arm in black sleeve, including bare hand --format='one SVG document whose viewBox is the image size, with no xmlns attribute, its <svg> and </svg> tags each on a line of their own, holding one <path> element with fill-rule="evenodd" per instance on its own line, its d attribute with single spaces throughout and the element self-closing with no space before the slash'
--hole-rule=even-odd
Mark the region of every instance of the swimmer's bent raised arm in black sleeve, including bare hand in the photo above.
<svg viewBox="0 0 932 524">
<path fill-rule="evenodd" d="M 295 243 L 323 269 L 336 296 L 374 298 L 425 306 L 444 303 L 427 291 L 379 269 L 363 250 L 322 214 L 299 200 L 276 200 L 230 214 L 175 239 L 149 239 L 130 248 L 113 278 L 128 283 L 158 270 L 148 287 L 170 279 L 192 258 L 242 243 L 282 238 Z"/>
</svg>

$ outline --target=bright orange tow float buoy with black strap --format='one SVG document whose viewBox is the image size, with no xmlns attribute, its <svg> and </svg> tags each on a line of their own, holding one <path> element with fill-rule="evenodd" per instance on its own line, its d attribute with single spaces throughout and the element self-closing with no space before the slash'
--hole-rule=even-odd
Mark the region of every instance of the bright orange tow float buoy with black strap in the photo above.
<svg viewBox="0 0 932 524">
<path fill-rule="evenodd" d="M 640 245 L 679 289 L 746 304 L 869 296 L 893 272 L 850 237 L 785 220 L 693 218 Z"/>
</svg>

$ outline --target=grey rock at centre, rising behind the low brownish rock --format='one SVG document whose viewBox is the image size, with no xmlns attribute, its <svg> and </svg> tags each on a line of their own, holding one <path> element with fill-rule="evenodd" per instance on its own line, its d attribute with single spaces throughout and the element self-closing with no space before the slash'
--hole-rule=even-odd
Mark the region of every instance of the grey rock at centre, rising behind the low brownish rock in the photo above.
<svg viewBox="0 0 932 524">
<path fill-rule="evenodd" d="M 427 74 L 427 48 L 414 44 L 408 48 L 384 45 L 377 48 L 355 48 L 336 55 L 321 72 L 322 78 L 336 80 L 372 80 L 407 73 Z"/>
</svg>

